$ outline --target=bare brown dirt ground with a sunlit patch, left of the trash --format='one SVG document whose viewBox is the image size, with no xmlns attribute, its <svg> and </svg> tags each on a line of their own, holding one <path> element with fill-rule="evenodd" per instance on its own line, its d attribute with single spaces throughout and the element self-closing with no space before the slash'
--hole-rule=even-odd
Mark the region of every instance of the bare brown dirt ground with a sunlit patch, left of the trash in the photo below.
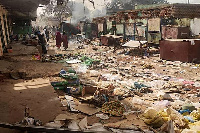
<svg viewBox="0 0 200 133">
<path fill-rule="evenodd" d="M 18 42 L 11 45 L 13 53 L 5 54 L 0 59 L 0 121 L 20 122 L 25 107 L 30 108 L 31 116 L 43 123 L 53 121 L 63 111 L 49 77 L 58 74 L 62 64 L 32 60 L 32 55 L 38 53 L 34 46 Z M 48 51 L 48 54 L 54 53 L 54 49 Z M 15 72 L 25 72 L 25 79 L 11 79 L 10 73 Z M 0 129 L 0 132 L 16 131 Z"/>
</svg>

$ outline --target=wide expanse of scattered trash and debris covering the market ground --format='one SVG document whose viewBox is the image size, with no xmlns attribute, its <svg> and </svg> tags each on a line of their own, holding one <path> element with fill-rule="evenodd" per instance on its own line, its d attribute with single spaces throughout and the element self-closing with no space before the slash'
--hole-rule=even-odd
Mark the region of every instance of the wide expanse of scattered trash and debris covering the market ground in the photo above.
<svg viewBox="0 0 200 133">
<path fill-rule="evenodd" d="M 71 54 L 79 56 L 65 59 L 60 77 L 51 79 L 63 107 L 76 114 L 64 127 L 112 132 L 200 131 L 198 65 L 160 60 L 156 54 L 131 56 L 122 49 L 113 53 L 104 46 L 94 49 L 87 45 Z"/>
</svg>

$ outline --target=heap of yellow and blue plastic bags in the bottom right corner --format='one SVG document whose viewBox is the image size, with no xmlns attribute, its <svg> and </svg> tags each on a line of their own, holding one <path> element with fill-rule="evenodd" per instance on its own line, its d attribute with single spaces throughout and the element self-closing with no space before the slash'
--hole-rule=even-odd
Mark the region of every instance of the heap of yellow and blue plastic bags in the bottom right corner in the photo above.
<svg viewBox="0 0 200 133">
<path fill-rule="evenodd" d="M 156 128 L 159 132 L 196 133 L 200 131 L 199 109 L 192 104 L 185 104 L 177 111 L 173 106 L 170 107 L 169 101 L 161 101 L 157 107 L 145 110 L 140 117 L 147 125 Z"/>
</svg>

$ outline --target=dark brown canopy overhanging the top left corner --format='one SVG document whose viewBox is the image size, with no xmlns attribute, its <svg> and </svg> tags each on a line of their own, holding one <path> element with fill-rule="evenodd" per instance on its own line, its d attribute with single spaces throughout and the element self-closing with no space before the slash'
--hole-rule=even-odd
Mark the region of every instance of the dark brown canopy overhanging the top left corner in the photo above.
<svg viewBox="0 0 200 133">
<path fill-rule="evenodd" d="M 39 4 L 48 4 L 50 0 L 0 0 L 12 18 L 35 19 Z"/>
</svg>

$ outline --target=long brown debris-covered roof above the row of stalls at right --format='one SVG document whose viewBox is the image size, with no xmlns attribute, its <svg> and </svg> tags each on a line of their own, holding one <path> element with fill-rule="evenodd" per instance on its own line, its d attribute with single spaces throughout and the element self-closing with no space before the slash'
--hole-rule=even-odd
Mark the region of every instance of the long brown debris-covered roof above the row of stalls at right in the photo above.
<svg viewBox="0 0 200 133">
<path fill-rule="evenodd" d="M 144 18 L 200 18 L 200 4 L 165 4 L 152 8 L 126 10 L 114 15 L 94 18 L 93 22 L 102 22 L 105 18 L 109 20 L 127 21 L 129 19 Z"/>
</svg>

